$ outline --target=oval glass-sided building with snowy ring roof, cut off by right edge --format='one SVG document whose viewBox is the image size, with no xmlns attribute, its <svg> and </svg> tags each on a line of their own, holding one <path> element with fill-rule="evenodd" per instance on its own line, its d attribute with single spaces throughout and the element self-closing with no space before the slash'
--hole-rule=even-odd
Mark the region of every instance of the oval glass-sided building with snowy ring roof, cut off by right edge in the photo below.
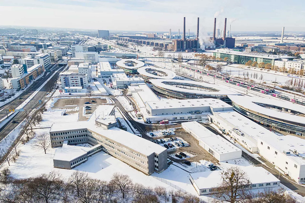
<svg viewBox="0 0 305 203">
<path fill-rule="evenodd" d="M 267 98 L 229 95 L 234 109 L 242 115 L 277 130 L 305 134 L 305 107 Z"/>
</svg>

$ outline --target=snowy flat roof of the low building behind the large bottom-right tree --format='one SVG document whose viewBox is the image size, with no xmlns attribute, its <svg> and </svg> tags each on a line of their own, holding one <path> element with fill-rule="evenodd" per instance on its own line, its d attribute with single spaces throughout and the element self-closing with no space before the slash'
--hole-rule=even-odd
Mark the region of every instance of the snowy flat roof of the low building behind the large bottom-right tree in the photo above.
<svg viewBox="0 0 305 203">
<path fill-rule="evenodd" d="M 272 183 L 278 182 L 279 180 L 265 170 L 263 167 L 254 166 L 236 166 L 244 171 L 252 184 L 258 183 Z M 221 172 L 222 171 L 205 171 L 199 173 L 190 173 L 190 176 L 194 180 L 197 187 L 201 189 L 214 188 L 221 183 Z M 272 184 L 271 184 L 272 185 Z"/>
</svg>

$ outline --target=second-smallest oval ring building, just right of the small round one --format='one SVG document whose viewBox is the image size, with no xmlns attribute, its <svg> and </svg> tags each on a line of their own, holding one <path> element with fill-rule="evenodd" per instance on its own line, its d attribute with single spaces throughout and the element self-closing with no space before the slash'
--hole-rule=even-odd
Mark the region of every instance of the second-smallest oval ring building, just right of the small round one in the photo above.
<svg viewBox="0 0 305 203">
<path fill-rule="evenodd" d="M 176 73 L 171 70 L 156 68 L 153 66 L 144 66 L 138 69 L 139 75 L 145 80 L 150 79 L 173 79 Z"/>
</svg>

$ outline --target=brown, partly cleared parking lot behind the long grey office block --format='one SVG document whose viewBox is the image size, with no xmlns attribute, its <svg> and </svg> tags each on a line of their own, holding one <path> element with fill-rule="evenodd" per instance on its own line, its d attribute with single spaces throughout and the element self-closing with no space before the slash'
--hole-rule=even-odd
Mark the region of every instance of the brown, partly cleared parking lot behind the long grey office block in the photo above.
<svg viewBox="0 0 305 203">
<path fill-rule="evenodd" d="M 95 102 L 92 102 L 95 101 Z M 85 104 L 89 102 L 90 104 Z M 79 120 L 87 120 L 88 117 L 84 116 L 84 111 L 94 112 L 98 105 L 106 103 L 106 99 L 101 98 L 67 98 L 67 99 L 59 99 L 55 104 L 54 108 L 58 109 L 75 109 L 79 107 L 78 111 L 68 111 L 67 114 L 77 113 Z M 84 108 L 90 107 L 88 110 L 84 110 Z M 88 114 L 89 116 L 90 114 Z"/>
</svg>

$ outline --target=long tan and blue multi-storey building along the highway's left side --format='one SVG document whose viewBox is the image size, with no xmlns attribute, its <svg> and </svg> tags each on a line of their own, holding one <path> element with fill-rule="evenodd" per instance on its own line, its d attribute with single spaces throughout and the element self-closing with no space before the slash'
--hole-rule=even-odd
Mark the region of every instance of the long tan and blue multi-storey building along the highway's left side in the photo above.
<svg viewBox="0 0 305 203">
<path fill-rule="evenodd" d="M 22 89 L 41 75 L 44 70 L 45 69 L 42 64 L 36 64 L 30 68 L 27 68 L 27 73 L 24 73 L 22 76 L 12 78 L 11 84 L 14 89 Z"/>
</svg>

